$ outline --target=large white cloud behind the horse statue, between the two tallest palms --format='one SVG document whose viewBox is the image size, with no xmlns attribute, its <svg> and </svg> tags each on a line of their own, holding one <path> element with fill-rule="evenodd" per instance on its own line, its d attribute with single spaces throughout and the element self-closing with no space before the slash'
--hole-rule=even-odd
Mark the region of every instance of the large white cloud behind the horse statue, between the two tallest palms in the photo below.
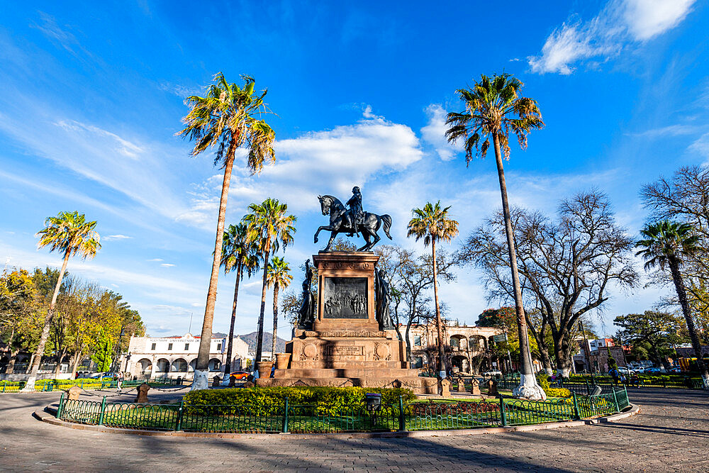
<svg viewBox="0 0 709 473">
<path fill-rule="evenodd" d="M 229 208 L 244 209 L 267 196 L 288 203 L 289 211 L 320 211 L 320 194 L 349 194 L 375 175 L 405 169 L 423 157 L 419 140 L 408 126 L 391 123 L 364 108 L 354 125 L 306 133 L 275 144 L 279 157 L 259 176 L 235 167 Z M 369 118 L 367 118 L 369 117 Z M 213 230 L 222 176 L 216 174 L 196 185 L 192 206 L 178 219 Z M 317 190 L 313 183 L 318 183 Z M 323 184 L 325 187 L 323 187 Z"/>
</svg>

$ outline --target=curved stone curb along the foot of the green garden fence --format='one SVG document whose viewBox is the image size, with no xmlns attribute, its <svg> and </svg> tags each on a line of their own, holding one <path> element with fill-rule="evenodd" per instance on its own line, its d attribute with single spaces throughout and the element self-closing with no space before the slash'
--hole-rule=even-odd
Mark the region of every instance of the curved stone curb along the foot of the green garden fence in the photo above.
<svg viewBox="0 0 709 473">
<path fill-rule="evenodd" d="M 52 413 L 53 411 L 53 413 Z M 208 433 L 208 432 L 184 432 L 184 431 L 169 431 L 163 432 L 160 430 L 140 430 L 130 428 L 106 427 L 104 425 L 85 425 L 73 422 L 60 421 L 55 418 L 57 409 L 46 406 L 43 410 L 37 410 L 33 413 L 33 417 L 39 421 L 46 422 L 52 425 L 60 425 L 65 428 L 73 428 L 77 430 L 89 430 L 91 432 L 105 432 L 129 435 L 148 435 L 155 437 L 180 437 L 180 438 L 425 438 L 425 437 L 453 437 L 457 435 L 483 435 L 491 433 L 510 433 L 510 432 L 530 432 L 532 430 L 545 430 L 549 428 L 562 427 L 579 427 L 580 425 L 596 425 L 601 423 L 610 423 L 619 421 L 630 416 L 635 416 L 640 412 L 640 406 L 630 404 L 630 409 L 625 412 L 612 414 L 610 416 L 585 419 L 581 421 L 562 421 L 554 423 L 536 424 L 536 425 L 518 425 L 515 427 L 489 427 L 489 428 L 469 428 L 456 430 L 413 430 L 407 432 L 352 432 L 352 433 Z"/>
</svg>

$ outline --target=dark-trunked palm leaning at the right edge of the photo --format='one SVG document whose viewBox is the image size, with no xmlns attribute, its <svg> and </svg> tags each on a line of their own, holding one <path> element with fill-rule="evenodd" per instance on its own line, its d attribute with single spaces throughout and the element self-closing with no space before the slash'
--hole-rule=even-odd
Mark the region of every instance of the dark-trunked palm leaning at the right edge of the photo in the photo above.
<svg viewBox="0 0 709 473">
<path fill-rule="evenodd" d="M 689 338 L 692 341 L 692 348 L 702 373 L 704 388 L 709 389 L 709 372 L 702 360 L 701 344 L 687 301 L 682 274 L 679 272 L 683 260 L 700 250 L 700 238 L 693 233 L 693 228 L 688 223 L 674 223 L 666 220 L 649 224 L 640 230 L 640 234 L 644 240 L 635 243 L 635 247 L 643 248 L 637 252 L 637 255 L 642 256 L 645 260 L 645 269 L 649 271 L 657 266 L 661 269 L 669 267 L 674 288 L 677 291 L 677 299 L 679 299 L 679 305 L 682 307 L 682 313 L 687 321 Z"/>
</svg>

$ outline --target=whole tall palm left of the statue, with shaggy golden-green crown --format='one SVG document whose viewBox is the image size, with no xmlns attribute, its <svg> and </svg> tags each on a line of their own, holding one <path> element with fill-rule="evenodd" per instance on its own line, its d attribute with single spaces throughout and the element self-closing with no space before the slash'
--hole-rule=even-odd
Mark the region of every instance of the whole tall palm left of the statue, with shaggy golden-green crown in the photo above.
<svg viewBox="0 0 709 473">
<path fill-rule="evenodd" d="M 207 388 L 209 347 L 212 340 L 214 305 L 217 299 L 217 280 L 222 253 L 226 201 L 236 150 L 245 148 L 248 151 L 246 167 L 251 174 L 261 172 L 264 164 L 275 160 L 274 131 L 265 121 L 257 118 L 261 113 L 268 111 L 264 103 L 266 91 L 262 91 L 261 94 L 255 93 L 254 79 L 243 75 L 241 78 L 244 80 L 244 85 L 239 87 L 237 84 L 226 82 L 224 74 L 219 72 L 214 76 L 215 83 L 208 87 L 205 97 L 196 95 L 187 97 L 186 104 L 191 110 L 183 118 L 185 128 L 177 133 L 183 138 L 196 141 L 191 151 L 193 156 L 199 155 L 207 148 L 216 146 L 214 164 L 219 163 L 224 169 L 212 272 L 209 278 L 207 302 L 204 307 L 202 333 L 192 389 Z"/>
</svg>

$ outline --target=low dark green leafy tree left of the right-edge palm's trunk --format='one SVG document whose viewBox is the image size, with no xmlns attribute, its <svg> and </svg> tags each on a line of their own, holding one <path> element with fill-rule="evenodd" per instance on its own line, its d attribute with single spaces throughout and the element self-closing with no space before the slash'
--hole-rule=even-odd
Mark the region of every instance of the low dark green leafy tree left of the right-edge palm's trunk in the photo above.
<svg viewBox="0 0 709 473">
<path fill-rule="evenodd" d="M 666 357 L 674 351 L 671 345 L 679 343 L 681 318 L 669 312 L 644 311 L 618 316 L 613 323 L 620 328 L 615 339 L 624 345 L 647 342 L 649 358 L 667 365 Z M 644 358 L 642 358 L 644 360 Z"/>
</svg>

